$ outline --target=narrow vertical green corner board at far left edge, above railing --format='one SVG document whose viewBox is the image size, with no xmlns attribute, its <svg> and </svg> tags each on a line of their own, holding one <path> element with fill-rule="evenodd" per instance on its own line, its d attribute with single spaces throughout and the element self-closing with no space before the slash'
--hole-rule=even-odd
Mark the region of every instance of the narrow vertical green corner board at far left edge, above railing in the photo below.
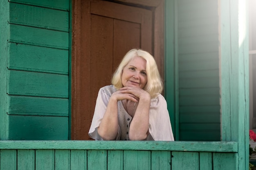
<svg viewBox="0 0 256 170">
<path fill-rule="evenodd" d="M 9 2 L 6 0 L 0 1 L 0 113 L 3 113 L 0 118 L 0 140 L 6 140 L 8 137 L 8 118 L 7 114 L 7 40 L 10 36 L 9 18 Z"/>
</svg>

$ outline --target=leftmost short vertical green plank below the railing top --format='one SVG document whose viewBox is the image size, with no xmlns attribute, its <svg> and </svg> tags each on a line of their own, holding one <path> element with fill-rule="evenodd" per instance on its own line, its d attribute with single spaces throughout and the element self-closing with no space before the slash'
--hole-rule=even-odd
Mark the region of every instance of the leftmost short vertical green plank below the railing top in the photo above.
<svg viewBox="0 0 256 170">
<path fill-rule="evenodd" d="M 17 168 L 17 151 L 0 150 L 0 170 L 16 170 Z"/>
</svg>

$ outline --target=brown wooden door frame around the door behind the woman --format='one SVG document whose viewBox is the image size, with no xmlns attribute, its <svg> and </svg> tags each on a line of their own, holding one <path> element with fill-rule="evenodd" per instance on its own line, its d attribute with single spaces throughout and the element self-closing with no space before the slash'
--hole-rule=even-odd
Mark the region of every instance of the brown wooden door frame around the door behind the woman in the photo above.
<svg viewBox="0 0 256 170">
<path fill-rule="evenodd" d="M 98 1 L 98 0 L 96 0 Z M 119 2 L 125 2 L 130 4 L 137 4 L 147 7 L 152 7 L 155 15 L 153 19 L 153 55 L 157 62 L 159 72 L 164 78 L 164 0 L 119 0 Z M 85 9 L 90 5 L 85 5 L 90 1 L 84 0 L 72 0 L 72 59 L 71 59 L 71 139 L 72 140 L 84 140 L 85 134 L 88 132 L 81 132 L 84 123 L 86 122 L 86 112 L 88 110 L 83 102 L 86 96 L 89 96 L 88 91 L 84 90 L 90 85 L 90 82 L 86 84 L 81 83 L 81 77 L 83 72 L 90 72 L 90 50 L 86 44 L 90 42 L 90 35 L 85 35 L 90 31 L 87 23 L 81 22 L 81 16 L 90 16 L 90 9 Z M 90 19 L 88 18 L 88 21 Z M 86 30 L 86 31 L 85 31 Z M 81 39 L 81 37 L 86 37 Z"/>
</svg>

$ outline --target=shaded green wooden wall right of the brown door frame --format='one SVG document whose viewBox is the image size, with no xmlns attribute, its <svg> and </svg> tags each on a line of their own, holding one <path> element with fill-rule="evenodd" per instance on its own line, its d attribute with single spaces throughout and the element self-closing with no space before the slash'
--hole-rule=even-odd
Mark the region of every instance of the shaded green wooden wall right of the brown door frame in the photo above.
<svg viewBox="0 0 256 170">
<path fill-rule="evenodd" d="M 166 99 L 177 140 L 220 141 L 218 23 L 217 0 L 166 1 Z"/>
</svg>

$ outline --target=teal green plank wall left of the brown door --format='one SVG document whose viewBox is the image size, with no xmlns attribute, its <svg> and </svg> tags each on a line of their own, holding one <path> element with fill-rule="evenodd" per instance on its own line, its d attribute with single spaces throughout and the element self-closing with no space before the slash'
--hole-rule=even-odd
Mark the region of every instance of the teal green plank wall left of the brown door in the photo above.
<svg viewBox="0 0 256 170">
<path fill-rule="evenodd" d="M 68 139 L 70 2 L 1 3 L 0 139 Z"/>
</svg>

